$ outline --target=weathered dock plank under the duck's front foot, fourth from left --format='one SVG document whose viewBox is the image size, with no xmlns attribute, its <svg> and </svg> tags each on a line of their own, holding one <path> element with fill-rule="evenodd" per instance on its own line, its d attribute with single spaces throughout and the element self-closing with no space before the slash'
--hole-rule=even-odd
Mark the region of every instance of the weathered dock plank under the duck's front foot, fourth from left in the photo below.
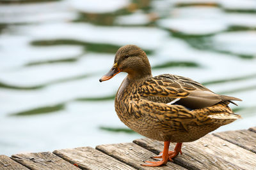
<svg viewBox="0 0 256 170">
<path fill-rule="evenodd" d="M 96 149 L 110 155 L 111 157 L 114 157 L 115 159 L 121 160 L 122 162 L 125 162 L 125 164 L 135 167 L 136 169 L 185 169 L 184 167 L 174 164 L 173 162 L 168 162 L 166 166 L 162 167 L 141 166 L 141 164 L 143 164 L 143 160 L 149 160 L 150 157 L 156 156 L 156 154 L 136 145 L 135 143 L 99 145 L 96 146 Z M 150 159 L 150 161 L 156 160 Z"/>
</svg>

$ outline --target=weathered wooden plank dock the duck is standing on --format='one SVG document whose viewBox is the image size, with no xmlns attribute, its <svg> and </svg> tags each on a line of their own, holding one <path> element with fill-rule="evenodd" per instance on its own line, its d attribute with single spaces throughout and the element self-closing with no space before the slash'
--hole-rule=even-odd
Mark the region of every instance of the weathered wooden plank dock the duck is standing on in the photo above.
<svg viewBox="0 0 256 170">
<path fill-rule="evenodd" d="M 175 144 L 171 144 L 173 150 Z M 133 143 L 0 155 L 0 169 L 248 169 L 256 170 L 256 127 L 208 134 L 184 143 L 182 155 L 166 166 L 140 164 L 163 150 L 163 142 L 143 138 Z"/>
</svg>

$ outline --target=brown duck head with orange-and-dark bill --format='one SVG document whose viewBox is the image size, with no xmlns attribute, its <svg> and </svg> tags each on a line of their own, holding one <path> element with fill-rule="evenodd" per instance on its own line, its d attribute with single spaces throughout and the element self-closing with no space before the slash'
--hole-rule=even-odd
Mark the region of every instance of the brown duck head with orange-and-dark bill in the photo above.
<svg viewBox="0 0 256 170">
<path fill-rule="evenodd" d="M 151 76 L 151 67 L 146 53 L 136 45 L 125 45 L 118 49 L 113 67 L 101 81 L 106 81 L 120 72 L 128 73 L 130 79 Z"/>
</svg>

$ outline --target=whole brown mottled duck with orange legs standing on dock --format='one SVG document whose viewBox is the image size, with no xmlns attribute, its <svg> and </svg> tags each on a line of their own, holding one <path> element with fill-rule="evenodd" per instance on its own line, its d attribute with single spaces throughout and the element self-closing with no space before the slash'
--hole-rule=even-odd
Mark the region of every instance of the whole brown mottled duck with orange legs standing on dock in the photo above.
<svg viewBox="0 0 256 170">
<path fill-rule="evenodd" d="M 161 166 L 182 154 L 184 142 L 195 141 L 241 118 L 228 107 L 236 97 L 215 94 L 200 83 L 173 74 L 152 76 L 146 53 L 135 45 L 118 49 L 113 67 L 101 81 L 120 72 L 128 75 L 115 97 L 115 110 L 127 127 L 147 138 L 164 141 L 164 150 L 143 166 Z M 170 142 L 177 143 L 168 151 Z"/>
</svg>

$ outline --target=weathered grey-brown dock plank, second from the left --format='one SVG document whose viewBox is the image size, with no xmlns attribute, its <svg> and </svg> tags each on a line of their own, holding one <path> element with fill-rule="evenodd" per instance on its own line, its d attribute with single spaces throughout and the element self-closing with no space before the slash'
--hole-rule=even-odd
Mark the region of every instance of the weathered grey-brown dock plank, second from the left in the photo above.
<svg viewBox="0 0 256 170">
<path fill-rule="evenodd" d="M 51 152 L 19 153 L 12 159 L 29 169 L 79 169 Z"/>
</svg>

